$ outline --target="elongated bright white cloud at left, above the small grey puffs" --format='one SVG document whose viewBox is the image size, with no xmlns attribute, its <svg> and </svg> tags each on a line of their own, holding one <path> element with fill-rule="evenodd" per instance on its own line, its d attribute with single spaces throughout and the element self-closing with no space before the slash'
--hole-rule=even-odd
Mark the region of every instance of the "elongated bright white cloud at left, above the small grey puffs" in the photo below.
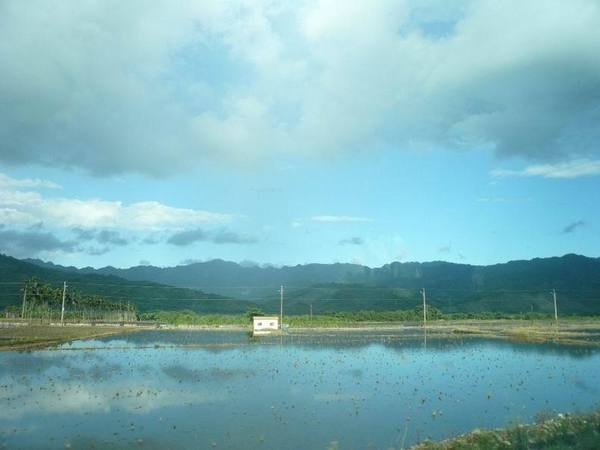
<svg viewBox="0 0 600 450">
<path fill-rule="evenodd" d="M 0 221 L 23 225 L 40 220 L 45 224 L 67 228 L 160 230 L 197 223 L 224 223 L 233 220 L 233 216 L 175 208 L 155 201 L 125 204 L 100 199 L 49 198 L 39 192 L 0 188 Z M 109 235 L 104 236 L 109 238 Z M 85 239 L 85 234 L 81 238 Z"/>
</svg>

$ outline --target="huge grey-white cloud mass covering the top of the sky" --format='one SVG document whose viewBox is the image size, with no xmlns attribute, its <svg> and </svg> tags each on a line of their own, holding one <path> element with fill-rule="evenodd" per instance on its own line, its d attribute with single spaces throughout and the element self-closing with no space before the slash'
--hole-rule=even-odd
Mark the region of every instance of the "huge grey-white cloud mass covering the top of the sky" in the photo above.
<svg viewBox="0 0 600 450">
<path fill-rule="evenodd" d="M 599 22 L 595 0 L 7 0 L 0 161 L 163 176 L 381 145 L 589 158 Z"/>
</svg>

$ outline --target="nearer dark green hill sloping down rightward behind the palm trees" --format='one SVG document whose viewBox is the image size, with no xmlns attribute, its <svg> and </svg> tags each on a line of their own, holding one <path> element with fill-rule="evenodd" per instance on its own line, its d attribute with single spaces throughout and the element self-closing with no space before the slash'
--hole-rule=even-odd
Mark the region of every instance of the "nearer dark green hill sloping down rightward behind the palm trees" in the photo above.
<svg viewBox="0 0 600 450">
<path fill-rule="evenodd" d="M 255 306 L 251 302 L 229 299 L 201 290 L 182 289 L 148 281 L 132 281 L 114 275 L 83 273 L 76 269 L 58 269 L 60 266 L 44 264 L 43 267 L 0 254 L 0 309 L 21 302 L 21 283 L 25 278 L 69 289 L 99 294 L 113 301 L 133 303 L 140 311 L 157 309 L 190 309 L 200 313 L 241 313 Z"/>
</svg>

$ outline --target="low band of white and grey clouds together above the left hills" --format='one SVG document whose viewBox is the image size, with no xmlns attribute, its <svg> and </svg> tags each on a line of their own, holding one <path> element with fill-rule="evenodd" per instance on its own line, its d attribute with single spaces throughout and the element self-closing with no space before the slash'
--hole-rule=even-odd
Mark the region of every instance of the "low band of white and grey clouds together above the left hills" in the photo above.
<svg viewBox="0 0 600 450">
<path fill-rule="evenodd" d="M 238 218 L 232 214 L 176 208 L 156 201 L 126 204 L 49 197 L 40 192 L 40 188 L 57 186 L 0 173 L 0 252 L 18 257 L 57 252 L 103 255 L 131 242 L 164 242 L 165 234 L 171 234 L 168 243 L 175 245 L 203 240 L 216 244 L 256 242 L 251 236 L 224 228 L 209 232 L 189 229 L 200 224 L 222 227 Z"/>
</svg>

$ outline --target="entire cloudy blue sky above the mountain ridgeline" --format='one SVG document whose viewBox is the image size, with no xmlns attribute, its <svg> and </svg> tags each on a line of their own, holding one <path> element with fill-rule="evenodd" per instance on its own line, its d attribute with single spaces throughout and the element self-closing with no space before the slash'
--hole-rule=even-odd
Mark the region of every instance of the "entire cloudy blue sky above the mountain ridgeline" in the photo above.
<svg viewBox="0 0 600 450">
<path fill-rule="evenodd" d="M 600 1 L 0 1 L 0 252 L 600 256 Z"/>
</svg>

